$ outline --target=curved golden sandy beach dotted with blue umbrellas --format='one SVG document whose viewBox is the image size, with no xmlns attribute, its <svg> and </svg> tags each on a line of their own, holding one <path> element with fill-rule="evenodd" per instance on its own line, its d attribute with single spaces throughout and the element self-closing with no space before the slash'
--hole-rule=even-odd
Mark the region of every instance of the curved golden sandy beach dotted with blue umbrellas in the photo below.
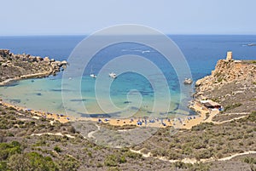
<svg viewBox="0 0 256 171">
<path fill-rule="evenodd" d="M 108 123 L 114 126 L 125 126 L 125 125 L 136 125 L 138 127 L 154 127 L 154 128 L 166 128 L 173 126 L 174 128 L 185 128 L 190 129 L 195 125 L 200 123 L 209 123 L 212 122 L 212 117 L 218 114 L 219 111 L 208 110 L 205 106 L 202 106 L 200 102 L 194 101 L 193 105 L 190 107 L 193 108 L 198 115 L 196 116 L 187 116 L 183 118 L 154 118 L 154 119 L 145 119 L 143 117 L 137 118 L 104 118 L 104 117 L 72 117 L 66 116 L 58 113 L 50 113 L 44 111 L 34 111 L 32 109 L 27 109 L 26 107 L 20 107 L 18 105 L 12 105 L 2 101 L 2 105 L 7 107 L 13 107 L 17 111 L 29 111 L 32 113 L 33 118 L 47 118 L 51 124 L 55 122 L 67 123 L 67 122 L 76 122 L 76 121 L 93 121 L 95 123 Z M 207 113 L 209 116 L 207 117 Z M 138 124 L 141 123 L 141 124 Z"/>
</svg>

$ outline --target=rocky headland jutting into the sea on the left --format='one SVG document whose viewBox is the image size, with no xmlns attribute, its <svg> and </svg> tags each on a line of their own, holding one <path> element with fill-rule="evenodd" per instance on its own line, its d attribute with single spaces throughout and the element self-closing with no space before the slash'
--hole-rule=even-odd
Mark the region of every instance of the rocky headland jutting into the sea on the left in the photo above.
<svg viewBox="0 0 256 171">
<path fill-rule="evenodd" d="M 49 57 L 30 54 L 13 54 L 8 49 L 0 49 L 0 83 L 28 77 L 47 77 L 55 75 L 67 61 L 49 60 Z"/>
</svg>

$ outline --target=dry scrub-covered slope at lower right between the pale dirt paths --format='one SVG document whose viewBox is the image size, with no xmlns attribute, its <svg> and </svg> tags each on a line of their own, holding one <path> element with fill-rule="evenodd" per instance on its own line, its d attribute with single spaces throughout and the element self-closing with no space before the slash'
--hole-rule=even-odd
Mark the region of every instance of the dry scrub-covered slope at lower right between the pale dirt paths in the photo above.
<svg viewBox="0 0 256 171">
<path fill-rule="evenodd" d="M 171 136 L 171 128 L 161 128 L 136 150 L 150 151 L 154 157 L 221 158 L 244 151 L 256 151 L 256 112 L 230 123 L 201 123 L 191 130 Z"/>
</svg>

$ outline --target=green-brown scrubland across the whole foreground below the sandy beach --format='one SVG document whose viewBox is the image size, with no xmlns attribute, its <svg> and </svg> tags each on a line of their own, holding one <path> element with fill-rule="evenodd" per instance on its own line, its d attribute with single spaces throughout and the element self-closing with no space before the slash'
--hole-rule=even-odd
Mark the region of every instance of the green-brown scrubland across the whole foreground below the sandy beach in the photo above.
<svg viewBox="0 0 256 171">
<path fill-rule="evenodd" d="M 18 115 L 19 114 L 19 115 Z M 47 119 L 33 119 L 31 113 L 0 105 L 0 171 L 2 170 L 210 170 L 214 162 L 189 164 L 165 162 L 154 157 L 179 160 L 220 158 L 243 151 L 256 151 L 256 112 L 231 123 L 201 123 L 191 130 L 170 134 L 172 128 L 160 128 L 134 150 L 151 152 L 142 157 L 129 148 L 113 149 L 84 139 L 71 123 L 49 124 Z M 102 125 L 101 125 L 102 126 Z M 104 125 L 103 127 L 109 127 Z M 130 128 L 128 126 L 127 128 Z M 113 127 L 113 129 L 120 129 Z M 38 133 L 70 134 L 32 136 Z M 241 160 L 252 168 L 251 158 Z M 20 164 L 19 164 L 20 163 Z M 222 162 L 224 165 L 225 162 Z"/>
</svg>

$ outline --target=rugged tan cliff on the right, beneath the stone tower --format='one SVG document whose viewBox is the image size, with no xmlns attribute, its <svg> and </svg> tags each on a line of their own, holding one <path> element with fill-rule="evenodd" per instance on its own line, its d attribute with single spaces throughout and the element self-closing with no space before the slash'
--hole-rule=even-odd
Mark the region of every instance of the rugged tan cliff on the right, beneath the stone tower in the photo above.
<svg viewBox="0 0 256 171">
<path fill-rule="evenodd" d="M 218 60 L 212 74 L 195 87 L 195 98 L 236 105 L 233 111 L 256 111 L 256 61 Z"/>
</svg>

